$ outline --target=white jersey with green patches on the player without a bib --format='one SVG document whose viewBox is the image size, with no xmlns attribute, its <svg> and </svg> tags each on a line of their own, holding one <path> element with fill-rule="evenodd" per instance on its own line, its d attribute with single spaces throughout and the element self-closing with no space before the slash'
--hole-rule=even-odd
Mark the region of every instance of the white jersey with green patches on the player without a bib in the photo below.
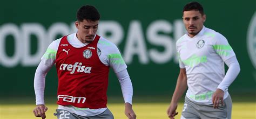
<svg viewBox="0 0 256 119">
<path fill-rule="evenodd" d="M 225 76 L 224 61 L 235 56 L 227 39 L 203 26 L 193 38 L 184 34 L 176 43 L 180 68 L 186 68 L 188 90 L 193 101 L 212 103 L 212 95 Z M 224 99 L 228 96 L 224 90 Z"/>
</svg>

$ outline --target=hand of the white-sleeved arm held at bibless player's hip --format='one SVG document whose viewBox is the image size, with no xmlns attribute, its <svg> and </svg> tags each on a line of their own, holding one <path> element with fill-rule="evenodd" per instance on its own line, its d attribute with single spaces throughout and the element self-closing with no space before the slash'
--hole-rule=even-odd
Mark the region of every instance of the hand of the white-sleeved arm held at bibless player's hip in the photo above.
<svg viewBox="0 0 256 119">
<path fill-rule="evenodd" d="M 213 108 L 219 108 L 219 103 L 221 103 L 221 106 L 224 106 L 224 91 L 221 89 L 217 89 L 213 95 L 212 95 L 212 103 L 213 103 Z"/>
</svg>

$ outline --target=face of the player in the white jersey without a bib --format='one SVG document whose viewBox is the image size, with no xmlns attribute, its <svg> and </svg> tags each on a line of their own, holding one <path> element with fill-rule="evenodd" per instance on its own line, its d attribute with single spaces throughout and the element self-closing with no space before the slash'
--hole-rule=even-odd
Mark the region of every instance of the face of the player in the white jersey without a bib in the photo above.
<svg viewBox="0 0 256 119">
<path fill-rule="evenodd" d="M 183 12 L 183 23 L 186 27 L 188 35 L 192 38 L 203 29 L 206 16 L 201 15 L 199 11 L 184 11 Z"/>
</svg>

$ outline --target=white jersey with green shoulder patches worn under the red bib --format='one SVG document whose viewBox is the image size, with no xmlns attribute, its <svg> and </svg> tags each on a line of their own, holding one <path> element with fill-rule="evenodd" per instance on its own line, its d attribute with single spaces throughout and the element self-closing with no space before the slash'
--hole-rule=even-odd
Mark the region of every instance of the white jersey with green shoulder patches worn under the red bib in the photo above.
<svg viewBox="0 0 256 119">
<path fill-rule="evenodd" d="M 67 39 L 73 47 L 77 47 L 77 48 L 84 47 L 87 44 L 89 44 L 89 43 L 83 44 L 82 42 L 80 42 L 80 40 L 78 40 L 78 38 L 76 37 L 76 33 L 70 34 L 67 37 Z M 41 60 L 42 60 L 41 62 L 43 62 L 44 65 L 52 67 L 55 64 L 56 53 L 58 50 L 60 40 L 61 40 L 61 38 L 53 41 L 49 45 L 45 54 L 41 58 Z M 109 40 L 106 40 L 105 38 L 100 37 L 98 44 L 97 44 L 97 48 L 98 48 L 97 52 L 98 52 L 99 60 L 102 61 L 102 63 L 104 65 L 112 67 L 112 69 L 115 73 L 121 72 L 127 68 L 117 46 L 114 45 L 113 43 L 111 43 Z M 127 85 L 130 85 L 130 84 L 127 84 Z M 130 89 L 130 87 L 129 87 L 129 89 Z M 122 89 L 122 91 L 123 91 L 123 89 Z M 132 89 L 131 89 L 131 93 L 132 93 Z M 125 102 L 131 103 L 132 94 L 128 94 L 128 96 L 126 96 L 126 97 L 125 97 L 125 95 L 127 95 L 127 94 L 124 94 Z M 77 108 L 74 106 L 59 105 L 58 109 L 69 110 L 71 113 L 75 113 L 75 114 L 81 115 L 81 116 L 95 116 L 95 115 L 103 113 L 107 108 L 89 109 L 89 108 Z"/>
</svg>

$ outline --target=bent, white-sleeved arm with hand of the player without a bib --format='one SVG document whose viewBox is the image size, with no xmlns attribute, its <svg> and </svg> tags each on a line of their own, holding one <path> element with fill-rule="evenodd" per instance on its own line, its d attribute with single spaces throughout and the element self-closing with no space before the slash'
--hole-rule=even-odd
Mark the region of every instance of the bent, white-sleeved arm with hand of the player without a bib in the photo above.
<svg viewBox="0 0 256 119">
<path fill-rule="evenodd" d="M 220 82 L 217 90 L 212 96 L 213 108 L 218 108 L 220 102 L 224 106 L 224 92 L 235 78 L 237 78 L 237 75 L 240 72 L 240 66 L 232 47 L 228 44 L 228 41 L 224 36 L 218 34 L 213 41 L 213 49 L 228 66 L 228 70 L 223 81 Z"/>
</svg>

